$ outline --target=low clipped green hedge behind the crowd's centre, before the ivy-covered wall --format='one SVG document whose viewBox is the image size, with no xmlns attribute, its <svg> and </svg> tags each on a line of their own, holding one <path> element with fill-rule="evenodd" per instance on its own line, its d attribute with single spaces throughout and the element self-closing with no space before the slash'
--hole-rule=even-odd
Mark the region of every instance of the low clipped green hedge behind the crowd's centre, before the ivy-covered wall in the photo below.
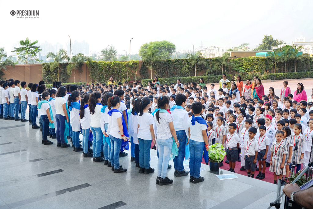
<svg viewBox="0 0 313 209">
<path fill-rule="evenodd" d="M 159 78 L 159 81 L 161 84 L 167 83 L 167 85 L 170 85 L 171 83 L 177 83 L 177 78 L 180 79 L 181 83 L 191 83 L 192 81 L 195 81 L 199 83 L 200 78 L 204 79 L 205 83 L 218 83 L 221 79 L 222 76 L 190 76 L 190 77 L 172 77 L 172 78 Z M 232 75 L 227 75 L 227 79 L 232 81 Z M 142 79 L 141 83 L 143 86 L 148 86 L 148 82 L 152 81 L 152 79 Z"/>
</svg>

